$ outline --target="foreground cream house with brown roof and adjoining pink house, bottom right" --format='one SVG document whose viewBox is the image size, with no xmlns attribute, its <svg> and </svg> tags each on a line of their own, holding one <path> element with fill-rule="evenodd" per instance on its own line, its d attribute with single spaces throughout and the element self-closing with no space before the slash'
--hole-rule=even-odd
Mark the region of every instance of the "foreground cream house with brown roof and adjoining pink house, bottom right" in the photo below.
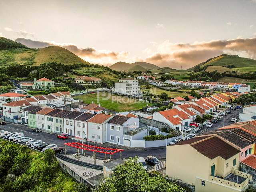
<svg viewBox="0 0 256 192">
<path fill-rule="evenodd" d="M 166 174 L 195 192 L 245 191 L 256 177 L 255 146 L 256 120 L 231 124 L 167 146 Z"/>
</svg>

